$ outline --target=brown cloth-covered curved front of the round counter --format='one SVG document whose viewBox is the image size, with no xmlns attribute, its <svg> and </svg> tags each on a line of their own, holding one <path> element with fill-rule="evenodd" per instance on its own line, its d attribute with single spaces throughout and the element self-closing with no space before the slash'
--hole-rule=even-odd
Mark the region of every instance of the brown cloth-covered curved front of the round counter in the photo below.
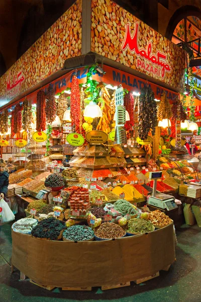
<svg viewBox="0 0 201 302">
<path fill-rule="evenodd" d="M 175 260 L 173 224 L 108 241 L 50 241 L 13 231 L 12 239 L 12 265 L 44 286 L 92 287 L 130 282 L 154 275 Z"/>
</svg>

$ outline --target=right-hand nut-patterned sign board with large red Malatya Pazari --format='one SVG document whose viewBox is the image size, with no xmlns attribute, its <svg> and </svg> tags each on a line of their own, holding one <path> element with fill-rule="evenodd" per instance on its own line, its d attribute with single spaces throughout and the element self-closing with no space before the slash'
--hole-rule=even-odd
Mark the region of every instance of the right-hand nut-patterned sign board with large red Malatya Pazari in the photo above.
<svg viewBox="0 0 201 302">
<path fill-rule="evenodd" d="M 185 51 L 111 0 L 92 1 L 91 51 L 184 88 Z"/>
</svg>

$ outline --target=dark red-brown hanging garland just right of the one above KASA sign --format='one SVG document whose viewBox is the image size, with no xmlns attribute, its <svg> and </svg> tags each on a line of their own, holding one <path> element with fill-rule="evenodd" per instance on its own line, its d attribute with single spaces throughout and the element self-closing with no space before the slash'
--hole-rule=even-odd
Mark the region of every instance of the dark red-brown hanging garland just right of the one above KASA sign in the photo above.
<svg viewBox="0 0 201 302">
<path fill-rule="evenodd" d="M 47 89 L 45 112 L 47 122 L 52 124 L 56 117 L 55 93 L 52 86 L 49 86 Z"/>
</svg>

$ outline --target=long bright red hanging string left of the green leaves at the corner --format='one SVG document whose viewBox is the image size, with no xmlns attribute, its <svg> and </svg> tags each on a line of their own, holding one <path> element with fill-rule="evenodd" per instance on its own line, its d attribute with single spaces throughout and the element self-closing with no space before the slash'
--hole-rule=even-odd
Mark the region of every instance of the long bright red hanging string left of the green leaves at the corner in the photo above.
<svg viewBox="0 0 201 302">
<path fill-rule="evenodd" d="M 79 83 L 75 75 L 72 77 L 70 94 L 70 117 L 72 130 L 82 133 L 82 116 L 80 110 Z"/>
</svg>

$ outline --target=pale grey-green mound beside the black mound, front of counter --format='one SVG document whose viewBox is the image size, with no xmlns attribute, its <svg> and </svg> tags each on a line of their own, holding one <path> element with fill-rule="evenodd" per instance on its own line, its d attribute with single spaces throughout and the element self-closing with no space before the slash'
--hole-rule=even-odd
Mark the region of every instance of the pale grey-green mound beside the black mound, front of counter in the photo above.
<svg viewBox="0 0 201 302">
<path fill-rule="evenodd" d="M 72 241 L 84 241 L 93 238 L 94 233 L 87 225 L 72 225 L 63 232 L 63 237 Z"/>
</svg>

